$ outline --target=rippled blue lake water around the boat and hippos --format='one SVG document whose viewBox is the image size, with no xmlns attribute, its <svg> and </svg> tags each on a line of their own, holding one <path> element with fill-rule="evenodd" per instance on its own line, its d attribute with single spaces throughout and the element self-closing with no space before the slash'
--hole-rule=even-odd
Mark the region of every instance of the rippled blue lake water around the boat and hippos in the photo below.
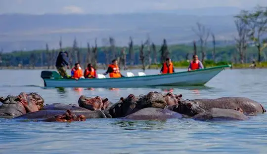
<svg viewBox="0 0 267 154">
<path fill-rule="evenodd" d="M 139 70 L 132 71 L 135 75 Z M 176 70 L 183 71 L 183 70 Z M 148 70 L 146 74 L 157 74 Z M 104 73 L 99 70 L 98 73 Z M 224 70 L 206 86 L 45 89 L 41 70 L 0 70 L 0 96 L 38 92 L 45 103 L 78 103 L 80 95 L 107 97 L 116 102 L 130 93 L 181 93 L 186 99 L 243 96 L 267 108 L 267 69 Z M 125 75 L 125 72 L 123 72 Z M 267 114 L 247 121 L 122 121 L 29 122 L 0 119 L 0 154 L 266 154 Z"/>
</svg>

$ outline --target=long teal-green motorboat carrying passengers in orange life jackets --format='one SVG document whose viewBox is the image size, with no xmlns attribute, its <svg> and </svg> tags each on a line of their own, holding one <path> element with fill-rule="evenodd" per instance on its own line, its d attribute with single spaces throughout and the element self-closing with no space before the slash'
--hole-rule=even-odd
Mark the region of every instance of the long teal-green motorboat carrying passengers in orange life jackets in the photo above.
<svg viewBox="0 0 267 154">
<path fill-rule="evenodd" d="M 42 71 L 45 87 L 85 87 L 85 88 L 132 88 L 151 86 L 195 86 L 204 85 L 231 65 L 183 71 L 164 75 L 142 75 L 120 78 L 62 78 L 56 71 Z"/>
</svg>

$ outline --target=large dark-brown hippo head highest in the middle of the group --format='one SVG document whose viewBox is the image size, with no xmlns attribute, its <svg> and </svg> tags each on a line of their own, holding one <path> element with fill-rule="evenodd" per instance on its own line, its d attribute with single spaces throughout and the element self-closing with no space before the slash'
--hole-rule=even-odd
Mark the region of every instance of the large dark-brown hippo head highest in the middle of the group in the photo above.
<svg viewBox="0 0 267 154">
<path fill-rule="evenodd" d="M 163 97 L 163 94 L 151 91 L 147 95 L 144 95 L 137 101 L 137 108 L 162 108 L 164 109 L 167 103 Z"/>
</svg>

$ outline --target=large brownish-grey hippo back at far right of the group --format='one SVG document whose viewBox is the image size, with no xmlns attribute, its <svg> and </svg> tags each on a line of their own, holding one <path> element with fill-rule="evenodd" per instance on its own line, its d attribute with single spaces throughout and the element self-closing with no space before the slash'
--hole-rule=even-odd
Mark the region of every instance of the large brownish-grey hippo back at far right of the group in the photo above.
<svg viewBox="0 0 267 154">
<path fill-rule="evenodd" d="M 236 109 L 241 108 L 244 114 L 264 113 L 266 109 L 258 102 L 246 97 L 221 97 L 216 99 L 194 99 L 201 108 Z"/>
</svg>

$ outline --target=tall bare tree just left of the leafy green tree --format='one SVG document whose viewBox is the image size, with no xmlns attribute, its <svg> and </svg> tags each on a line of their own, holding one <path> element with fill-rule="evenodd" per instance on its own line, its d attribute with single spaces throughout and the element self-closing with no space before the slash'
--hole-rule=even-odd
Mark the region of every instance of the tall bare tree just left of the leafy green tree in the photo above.
<svg viewBox="0 0 267 154">
<path fill-rule="evenodd" d="M 247 25 L 241 19 L 236 19 L 234 23 L 237 29 L 237 37 L 234 38 L 236 42 L 235 47 L 239 53 L 240 63 L 243 64 L 247 49 Z"/>
</svg>

